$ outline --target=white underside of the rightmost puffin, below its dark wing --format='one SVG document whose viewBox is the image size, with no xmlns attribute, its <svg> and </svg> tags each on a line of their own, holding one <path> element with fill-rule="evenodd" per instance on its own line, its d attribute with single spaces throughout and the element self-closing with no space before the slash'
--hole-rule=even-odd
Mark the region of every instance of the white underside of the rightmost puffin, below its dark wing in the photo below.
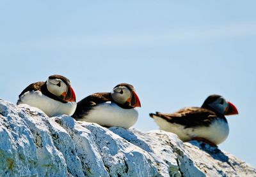
<svg viewBox="0 0 256 177">
<path fill-rule="evenodd" d="M 229 127 L 227 122 L 217 118 L 209 127 L 193 127 L 184 129 L 184 125 L 172 124 L 163 118 L 154 117 L 155 122 L 163 131 L 173 132 L 182 141 L 190 141 L 193 138 L 205 138 L 212 143 L 219 145 L 228 137 Z"/>
</svg>

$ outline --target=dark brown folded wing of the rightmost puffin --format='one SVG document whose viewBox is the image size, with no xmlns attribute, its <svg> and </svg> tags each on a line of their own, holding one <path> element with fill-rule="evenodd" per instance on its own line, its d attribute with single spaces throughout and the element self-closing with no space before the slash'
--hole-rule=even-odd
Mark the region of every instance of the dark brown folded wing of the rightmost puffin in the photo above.
<svg viewBox="0 0 256 177">
<path fill-rule="evenodd" d="M 171 114 L 159 112 L 156 112 L 156 114 L 150 113 L 150 117 L 160 117 L 172 124 L 184 125 L 185 128 L 209 126 L 212 120 L 217 118 L 213 111 L 195 107 L 183 108 Z"/>
</svg>

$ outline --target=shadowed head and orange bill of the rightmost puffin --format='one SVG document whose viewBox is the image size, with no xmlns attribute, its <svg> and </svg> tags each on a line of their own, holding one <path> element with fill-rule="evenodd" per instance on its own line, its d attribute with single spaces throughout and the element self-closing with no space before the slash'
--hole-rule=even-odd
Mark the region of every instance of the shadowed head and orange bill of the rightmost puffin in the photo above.
<svg viewBox="0 0 256 177">
<path fill-rule="evenodd" d="M 202 108 L 214 111 L 220 115 L 237 115 L 238 111 L 234 104 L 226 101 L 222 96 L 211 95 L 205 99 Z"/>
</svg>

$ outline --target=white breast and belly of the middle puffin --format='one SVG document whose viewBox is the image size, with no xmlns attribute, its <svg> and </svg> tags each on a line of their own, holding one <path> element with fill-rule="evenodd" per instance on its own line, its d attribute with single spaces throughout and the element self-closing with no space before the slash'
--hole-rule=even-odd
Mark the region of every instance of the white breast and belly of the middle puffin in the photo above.
<svg viewBox="0 0 256 177">
<path fill-rule="evenodd" d="M 123 109 L 115 103 L 102 103 L 95 107 L 80 120 L 95 122 L 107 127 L 124 127 L 128 129 L 137 122 L 138 111 Z"/>
</svg>

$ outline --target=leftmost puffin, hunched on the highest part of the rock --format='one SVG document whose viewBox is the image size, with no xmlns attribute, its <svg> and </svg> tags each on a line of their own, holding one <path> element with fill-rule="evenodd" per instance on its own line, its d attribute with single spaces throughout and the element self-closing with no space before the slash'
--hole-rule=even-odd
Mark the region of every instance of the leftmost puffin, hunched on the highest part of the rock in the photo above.
<svg viewBox="0 0 256 177">
<path fill-rule="evenodd" d="M 18 104 L 28 104 L 44 111 L 48 117 L 73 115 L 76 94 L 65 76 L 54 74 L 47 81 L 31 83 L 19 95 Z"/>
</svg>

